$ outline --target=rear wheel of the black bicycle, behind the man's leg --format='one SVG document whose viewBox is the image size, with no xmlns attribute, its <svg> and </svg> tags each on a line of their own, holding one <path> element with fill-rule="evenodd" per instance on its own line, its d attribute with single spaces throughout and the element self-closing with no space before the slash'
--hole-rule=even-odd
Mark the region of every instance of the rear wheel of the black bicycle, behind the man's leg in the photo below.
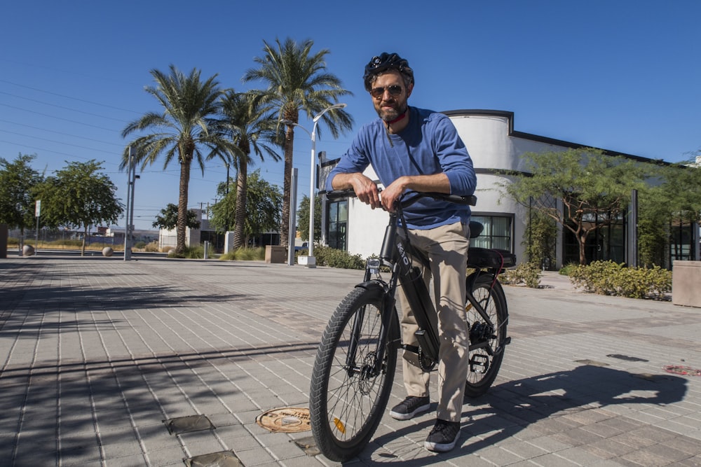
<svg viewBox="0 0 701 467">
<path fill-rule="evenodd" d="M 494 282 L 494 286 L 492 285 Z M 472 278 L 468 277 L 468 287 L 472 283 Z M 491 290 L 491 297 L 489 292 Z M 501 368 L 504 358 L 506 326 L 508 323 L 508 309 L 504 290 L 494 277 L 480 275 L 472 284 L 472 295 L 475 300 L 485 309 L 491 325 L 494 326 L 494 334 L 486 339 L 487 348 L 475 349 L 469 352 L 470 370 L 468 380 L 465 384 L 465 395 L 471 398 L 484 395 L 489 387 L 494 383 L 496 375 Z M 488 301 L 489 298 L 489 301 Z M 468 300 L 465 304 L 468 326 L 472 329 L 475 323 L 486 323 L 475 307 Z M 474 342 L 471 342 L 474 343 Z"/>
</svg>

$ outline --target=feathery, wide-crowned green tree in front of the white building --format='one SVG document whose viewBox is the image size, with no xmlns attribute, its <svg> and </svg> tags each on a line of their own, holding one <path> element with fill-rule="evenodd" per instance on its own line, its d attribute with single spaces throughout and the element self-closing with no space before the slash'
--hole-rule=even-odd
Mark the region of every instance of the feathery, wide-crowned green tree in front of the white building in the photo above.
<svg viewBox="0 0 701 467">
<path fill-rule="evenodd" d="M 519 204 L 550 216 L 577 239 L 580 264 L 591 232 L 627 209 L 632 190 L 643 190 L 650 167 L 594 148 L 526 153 L 524 174 L 504 187 Z M 562 203 L 562 209 L 553 203 Z"/>
</svg>

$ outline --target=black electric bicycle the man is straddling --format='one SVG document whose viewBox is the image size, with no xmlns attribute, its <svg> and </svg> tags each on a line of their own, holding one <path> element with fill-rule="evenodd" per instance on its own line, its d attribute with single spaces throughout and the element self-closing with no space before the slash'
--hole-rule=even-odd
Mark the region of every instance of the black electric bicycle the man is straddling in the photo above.
<svg viewBox="0 0 701 467">
<path fill-rule="evenodd" d="M 327 193 L 329 199 L 353 195 L 352 190 Z M 403 210 L 425 196 L 458 204 L 477 202 L 474 196 L 405 195 L 396 211 L 389 213 L 379 258 L 367 260 L 363 281 L 343 298 L 329 320 L 314 362 L 309 410 L 316 445 L 332 461 L 353 458 L 372 438 L 389 400 L 399 349 L 418 354 L 423 370 L 433 370 L 438 363 L 438 333 L 428 319 L 430 313 L 435 314 L 435 306 L 421 270 L 411 262 L 414 258 L 426 264 L 428 258 L 412 251 L 408 236 L 397 232 L 407 229 Z M 482 228 L 470 222 L 470 238 L 477 237 Z M 507 303 L 498 274 L 515 263 L 516 257 L 508 251 L 468 250 L 468 268 L 474 270 L 465 278 L 465 317 L 470 330 L 468 397 L 482 396 L 494 383 L 510 342 Z M 382 272 L 387 271 L 390 277 L 385 281 Z M 420 327 L 418 348 L 402 343 L 395 309 L 397 284 L 404 286 Z"/>
</svg>

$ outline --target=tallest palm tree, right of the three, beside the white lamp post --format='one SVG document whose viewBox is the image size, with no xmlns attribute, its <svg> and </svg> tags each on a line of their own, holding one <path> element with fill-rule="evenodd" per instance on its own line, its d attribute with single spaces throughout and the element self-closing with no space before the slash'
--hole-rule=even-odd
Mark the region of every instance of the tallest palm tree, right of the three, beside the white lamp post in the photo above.
<svg viewBox="0 0 701 467">
<path fill-rule="evenodd" d="M 278 114 L 279 120 L 299 122 L 299 112 L 313 118 L 316 113 L 337 104 L 339 97 L 353 93 L 341 88 L 341 80 L 326 71 L 325 55 L 329 50 L 322 49 L 311 53 L 313 41 L 297 43 L 286 39 L 275 46 L 263 41 L 264 55 L 255 57 L 257 69 L 249 69 L 243 81 L 264 81 L 268 88 L 263 93 L 263 102 Z M 334 138 L 341 132 L 351 130 L 353 118 L 342 110 L 324 114 L 323 122 L 329 127 Z M 283 222 L 280 229 L 280 243 L 287 244 L 287 225 L 290 223 L 290 186 L 292 183 L 292 151 L 294 148 L 294 125 L 288 123 L 285 129 L 285 179 L 283 183 Z M 320 131 L 319 131 L 320 133 Z"/>
</svg>

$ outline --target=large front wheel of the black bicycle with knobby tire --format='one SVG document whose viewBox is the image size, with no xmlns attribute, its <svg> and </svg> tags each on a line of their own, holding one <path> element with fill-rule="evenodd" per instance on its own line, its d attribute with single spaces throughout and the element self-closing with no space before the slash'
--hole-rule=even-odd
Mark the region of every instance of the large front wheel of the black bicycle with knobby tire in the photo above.
<svg viewBox="0 0 701 467">
<path fill-rule="evenodd" d="M 356 287 L 346 295 L 327 325 L 311 378 L 309 412 L 320 452 L 332 461 L 347 461 L 365 448 L 380 423 L 392 390 L 397 365 L 399 321 L 393 312 L 388 345 L 378 375 L 364 375 L 379 342 L 384 293 Z M 346 364 L 353 323 L 362 316 L 353 368 Z M 363 365 L 365 363 L 365 365 Z"/>
</svg>

